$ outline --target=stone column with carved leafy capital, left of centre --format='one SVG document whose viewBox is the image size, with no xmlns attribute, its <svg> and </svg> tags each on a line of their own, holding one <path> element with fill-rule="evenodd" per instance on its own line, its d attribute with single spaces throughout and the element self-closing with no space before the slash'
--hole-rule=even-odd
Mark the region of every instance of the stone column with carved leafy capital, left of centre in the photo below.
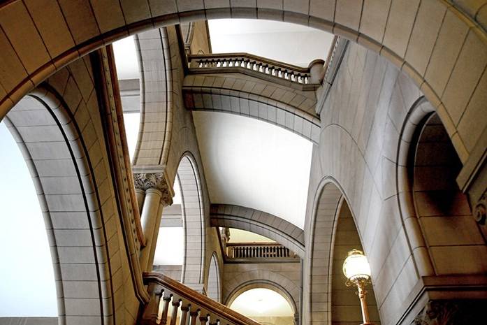
<svg viewBox="0 0 487 325">
<path fill-rule="evenodd" d="M 140 268 L 152 271 L 157 236 L 164 206 L 173 203 L 173 190 L 163 173 L 138 173 L 133 175 L 137 193 L 145 193 L 140 219 L 145 236 L 145 247 L 140 251 Z M 141 196 L 140 196 L 141 197 Z M 139 198 L 139 196 L 138 196 Z M 139 203 L 140 205 L 140 203 Z"/>
</svg>

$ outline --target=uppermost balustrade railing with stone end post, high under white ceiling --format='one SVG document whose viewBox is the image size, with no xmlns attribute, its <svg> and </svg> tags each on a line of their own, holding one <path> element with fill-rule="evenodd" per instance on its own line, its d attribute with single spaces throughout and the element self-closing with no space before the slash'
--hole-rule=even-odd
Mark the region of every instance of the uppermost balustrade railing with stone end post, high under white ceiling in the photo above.
<svg viewBox="0 0 487 325">
<path fill-rule="evenodd" d="M 324 61 L 316 59 L 307 68 L 277 62 L 247 53 L 189 55 L 191 72 L 243 72 L 267 75 L 300 85 L 319 85 L 323 80 Z"/>
</svg>

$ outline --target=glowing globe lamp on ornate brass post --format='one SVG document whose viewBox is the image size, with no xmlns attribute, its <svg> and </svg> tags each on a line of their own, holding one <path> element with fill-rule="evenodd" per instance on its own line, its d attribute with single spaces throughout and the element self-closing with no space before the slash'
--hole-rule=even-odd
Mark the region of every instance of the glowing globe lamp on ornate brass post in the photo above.
<svg viewBox="0 0 487 325">
<path fill-rule="evenodd" d="M 360 298 L 363 325 L 372 324 L 369 322 L 369 312 L 365 295 L 365 286 L 370 283 L 370 266 L 367 257 L 360 250 L 351 250 L 347 259 L 343 262 L 343 273 L 347 277 L 347 287 L 356 285 L 358 288 L 358 298 Z"/>
</svg>

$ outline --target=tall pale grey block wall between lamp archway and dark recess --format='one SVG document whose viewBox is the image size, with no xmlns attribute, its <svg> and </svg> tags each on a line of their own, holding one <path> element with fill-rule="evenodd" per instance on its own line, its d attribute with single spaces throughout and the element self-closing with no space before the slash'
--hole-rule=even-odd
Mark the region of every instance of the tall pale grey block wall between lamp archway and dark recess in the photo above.
<svg viewBox="0 0 487 325">
<path fill-rule="evenodd" d="M 414 257 L 414 231 L 403 224 L 409 216 L 400 209 L 408 204 L 401 193 L 409 188 L 395 177 L 400 134 L 422 96 L 404 72 L 350 43 L 322 107 L 320 143 L 313 150 L 306 236 L 319 185 L 330 180 L 340 187 L 354 215 L 384 324 L 399 321 L 424 275 L 423 261 Z"/>
</svg>

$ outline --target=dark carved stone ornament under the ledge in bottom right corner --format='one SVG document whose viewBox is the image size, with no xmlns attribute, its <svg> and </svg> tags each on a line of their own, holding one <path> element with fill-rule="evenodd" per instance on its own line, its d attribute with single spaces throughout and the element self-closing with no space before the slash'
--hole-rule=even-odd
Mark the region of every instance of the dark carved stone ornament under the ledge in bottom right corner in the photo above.
<svg viewBox="0 0 487 325">
<path fill-rule="evenodd" d="M 411 325 L 486 324 L 485 300 L 428 301 Z"/>
</svg>

